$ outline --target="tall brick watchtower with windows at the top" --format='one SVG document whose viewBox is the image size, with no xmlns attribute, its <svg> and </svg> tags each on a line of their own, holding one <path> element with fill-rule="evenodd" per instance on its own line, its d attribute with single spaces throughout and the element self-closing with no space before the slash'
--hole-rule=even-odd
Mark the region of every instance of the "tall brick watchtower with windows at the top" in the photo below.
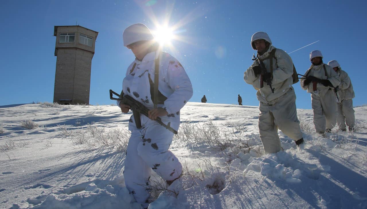
<svg viewBox="0 0 367 209">
<path fill-rule="evenodd" d="M 54 102 L 89 104 L 91 65 L 98 32 L 79 25 L 55 26 Z"/>
</svg>

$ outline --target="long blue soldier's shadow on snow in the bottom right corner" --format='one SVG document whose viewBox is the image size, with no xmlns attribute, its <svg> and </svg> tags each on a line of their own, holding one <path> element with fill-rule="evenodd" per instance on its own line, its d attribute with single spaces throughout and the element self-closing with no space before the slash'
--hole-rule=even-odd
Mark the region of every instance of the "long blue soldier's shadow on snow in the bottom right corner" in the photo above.
<svg viewBox="0 0 367 209">
<path fill-rule="evenodd" d="M 302 182 L 299 183 L 302 184 L 301 186 L 284 184 L 284 181 L 282 183 L 270 178 L 275 180 L 279 188 L 291 190 L 292 192 L 287 193 L 291 198 L 295 193 L 315 208 L 320 208 L 320 205 L 317 204 L 320 198 L 326 201 L 328 208 L 363 208 L 367 206 L 366 177 L 323 153 L 312 149 L 305 149 L 305 151 L 318 158 L 321 165 L 330 166 L 330 170 L 326 172 L 315 170 L 316 175 L 314 176 L 302 174 Z"/>
</svg>

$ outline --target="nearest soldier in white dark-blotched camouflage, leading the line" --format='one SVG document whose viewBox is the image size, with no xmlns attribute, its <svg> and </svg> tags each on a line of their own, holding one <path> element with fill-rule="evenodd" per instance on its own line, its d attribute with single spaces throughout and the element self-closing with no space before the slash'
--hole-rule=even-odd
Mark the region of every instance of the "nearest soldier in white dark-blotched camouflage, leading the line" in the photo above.
<svg viewBox="0 0 367 209">
<path fill-rule="evenodd" d="M 147 26 L 141 23 L 128 26 L 123 32 L 123 41 L 136 57 L 127 68 L 123 93 L 149 109 L 149 117 L 140 116 L 140 128 L 134 117 L 130 118 L 131 136 L 123 173 L 127 189 L 143 208 L 147 208 L 152 170 L 168 185 L 182 175 L 181 163 L 169 150 L 173 133 L 154 120 L 160 117 L 163 123 L 178 130 L 180 109 L 192 97 L 193 90 L 185 69 L 172 55 L 159 49 Z M 155 73 L 159 75 L 158 83 Z M 117 104 L 124 113 L 130 109 L 123 102 Z"/>
</svg>

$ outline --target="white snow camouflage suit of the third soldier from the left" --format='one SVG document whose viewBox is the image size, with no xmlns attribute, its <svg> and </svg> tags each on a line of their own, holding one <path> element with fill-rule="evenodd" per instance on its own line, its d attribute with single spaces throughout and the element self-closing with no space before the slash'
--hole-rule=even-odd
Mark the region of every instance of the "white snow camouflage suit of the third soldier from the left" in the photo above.
<svg viewBox="0 0 367 209">
<path fill-rule="evenodd" d="M 325 69 L 326 74 L 325 75 Z M 338 73 L 329 65 L 321 63 L 320 65 L 311 65 L 304 75 L 314 76 L 319 79 L 327 79 L 336 87 L 340 83 Z M 324 133 L 326 129 L 333 129 L 337 118 L 337 98 L 334 89 L 330 86 L 324 86 L 317 83 L 316 91 L 313 91 L 313 82 L 307 86 L 304 85 L 306 79 L 300 79 L 301 87 L 311 93 L 311 104 L 313 110 L 313 124 L 319 133 Z"/>
</svg>

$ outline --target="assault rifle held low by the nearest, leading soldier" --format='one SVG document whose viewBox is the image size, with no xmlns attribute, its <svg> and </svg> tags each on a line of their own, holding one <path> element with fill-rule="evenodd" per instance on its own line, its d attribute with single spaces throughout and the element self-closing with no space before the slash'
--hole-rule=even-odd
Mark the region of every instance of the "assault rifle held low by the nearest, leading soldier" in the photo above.
<svg viewBox="0 0 367 209">
<path fill-rule="evenodd" d="M 119 98 L 114 98 L 112 94 L 115 94 L 116 96 L 118 96 Z M 138 129 L 140 129 L 141 126 L 141 121 L 140 121 L 140 114 L 145 115 L 147 118 L 148 117 L 148 111 L 149 109 L 147 107 L 145 107 L 143 104 L 141 104 L 140 102 L 134 100 L 134 98 L 128 96 L 128 95 L 124 95 L 124 93 L 121 91 L 121 94 L 117 94 L 115 91 L 112 91 L 110 89 L 110 99 L 111 100 L 117 100 L 117 101 L 121 101 L 122 104 L 126 104 L 130 106 L 130 109 L 132 110 L 132 114 L 134 115 L 134 120 L 135 120 L 135 124 L 137 126 Z M 155 119 L 154 121 L 156 121 L 157 123 L 159 123 L 159 125 L 165 127 L 166 129 L 168 129 L 169 131 L 171 131 L 174 134 L 177 134 L 177 131 L 172 129 L 171 122 L 168 122 L 168 124 L 164 124 L 162 122 L 162 119 L 157 117 L 157 119 Z"/>
</svg>

